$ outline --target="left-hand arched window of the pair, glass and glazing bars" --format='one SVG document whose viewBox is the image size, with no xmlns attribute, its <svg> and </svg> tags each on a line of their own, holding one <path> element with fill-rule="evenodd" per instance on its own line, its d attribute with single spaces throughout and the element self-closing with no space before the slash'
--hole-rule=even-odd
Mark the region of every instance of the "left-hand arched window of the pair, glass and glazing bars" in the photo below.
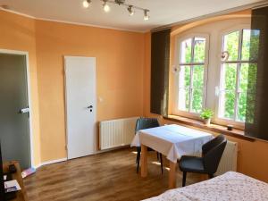
<svg viewBox="0 0 268 201">
<path fill-rule="evenodd" d="M 177 110 L 200 113 L 205 103 L 206 38 L 187 38 L 179 42 L 179 46 Z"/>
</svg>

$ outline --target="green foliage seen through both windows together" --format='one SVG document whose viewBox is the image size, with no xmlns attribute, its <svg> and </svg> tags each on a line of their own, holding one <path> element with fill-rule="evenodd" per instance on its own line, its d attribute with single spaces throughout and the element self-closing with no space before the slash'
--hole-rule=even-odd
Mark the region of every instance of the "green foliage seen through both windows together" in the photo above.
<svg viewBox="0 0 268 201">
<path fill-rule="evenodd" d="M 240 38 L 242 39 L 242 43 L 239 46 Z M 259 46 L 258 41 L 259 32 L 250 29 L 234 31 L 225 35 L 223 38 L 222 51 L 228 51 L 230 54 L 227 63 L 222 64 L 222 106 L 224 107 L 222 117 L 224 118 L 246 121 L 246 111 L 249 108 L 247 98 L 251 102 L 255 100 L 254 93 L 249 92 L 250 96 L 247 97 L 247 86 L 251 86 L 249 89 L 252 91 L 255 88 L 256 74 L 256 64 L 249 63 L 249 61 L 256 59 Z M 188 112 L 201 113 L 204 101 L 205 38 L 189 38 L 183 41 L 180 51 L 183 53 L 180 53 L 180 63 L 200 63 L 180 66 L 180 69 L 183 70 L 184 80 L 182 86 L 184 105 L 180 109 Z M 239 63 L 239 60 L 245 61 L 246 63 Z M 228 63 L 230 61 L 233 63 Z M 237 108 L 235 108 L 236 105 Z M 254 105 L 250 106 L 252 108 L 249 109 L 254 111 Z M 235 110 L 237 110 L 237 114 L 235 114 Z M 250 119 L 250 116 L 247 118 Z"/>
</svg>

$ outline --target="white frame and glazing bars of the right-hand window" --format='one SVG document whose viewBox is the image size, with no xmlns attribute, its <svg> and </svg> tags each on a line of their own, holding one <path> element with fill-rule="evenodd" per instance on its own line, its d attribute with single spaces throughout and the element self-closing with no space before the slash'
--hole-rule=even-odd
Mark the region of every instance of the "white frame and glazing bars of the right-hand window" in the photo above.
<svg viewBox="0 0 268 201">
<path fill-rule="evenodd" d="M 223 43 L 224 43 L 224 36 L 232 33 L 232 32 L 235 32 L 235 31 L 239 31 L 239 56 L 241 55 L 240 54 L 240 51 L 242 50 L 242 35 L 241 35 L 241 31 L 243 29 L 251 29 L 250 28 L 250 25 L 249 24 L 240 24 L 238 26 L 234 26 L 230 29 L 225 29 L 221 32 L 220 36 L 219 36 L 219 40 L 220 40 L 220 49 L 219 49 L 219 54 L 218 55 L 221 55 L 222 54 L 222 51 L 223 51 Z M 220 116 L 220 107 L 221 107 L 221 89 L 222 89 L 222 65 L 226 62 L 222 62 L 222 59 L 221 57 L 219 56 L 219 67 L 220 67 L 220 75 L 219 75 L 219 80 L 218 80 L 218 83 L 217 83 L 217 89 L 216 89 L 216 96 L 217 96 L 217 103 L 216 103 L 216 108 L 215 108 L 215 115 L 214 115 L 214 122 L 215 123 L 218 123 L 218 124 L 223 124 L 223 125 L 227 125 L 227 124 L 232 124 L 236 127 L 239 127 L 241 129 L 243 129 L 245 127 L 245 122 L 243 121 L 235 121 L 235 120 L 230 120 L 230 119 L 227 119 L 227 118 L 224 118 L 224 117 L 221 117 Z M 248 61 L 242 61 L 241 58 L 239 58 L 239 60 L 237 61 L 232 61 L 232 62 L 227 62 L 227 63 L 245 63 L 245 62 L 248 62 Z M 240 65 L 239 65 L 240 66 Z M 237 108 L 238 108 L 238 94 L 239 94 L 239 76 L 240 76 L 240 68 L 238 68 L 238 71 L 237 71 L 237 77 L 236 77 L 236 103 L 235 103 L 235 118 L 237 118 Z"/>
</svg>

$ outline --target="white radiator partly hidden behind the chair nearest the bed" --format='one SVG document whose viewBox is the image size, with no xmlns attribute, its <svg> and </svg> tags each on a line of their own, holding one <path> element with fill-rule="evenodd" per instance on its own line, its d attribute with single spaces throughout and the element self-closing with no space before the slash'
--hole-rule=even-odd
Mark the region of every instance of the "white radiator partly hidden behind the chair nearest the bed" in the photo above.
<svg viewBox="0 0 268 201">
<path fill-rule="evenodd" d="M 221 162 L 215 175 L 221 175 L 229 171 L 237 171 L 238 163 L 238 143 L 227 141 L 227 145 L 222 155 Z"/>
</svg>

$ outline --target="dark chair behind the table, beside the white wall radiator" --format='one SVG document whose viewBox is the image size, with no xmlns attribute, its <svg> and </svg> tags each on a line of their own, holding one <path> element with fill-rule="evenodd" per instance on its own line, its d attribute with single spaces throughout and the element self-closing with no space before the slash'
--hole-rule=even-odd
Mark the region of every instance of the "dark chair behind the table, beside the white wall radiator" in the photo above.
<svg viewBox="0 0 268 201">
<path fill-rule="evenodd" d="M 142 117 L 140 117 L 140 118 L 138 118 L 138 120 L 136 122 L 135 134 L 138 132 L 138 130 L 146 130 L 146 129 L 151 129 L 151 128 L 155 128 L 155 127 L 159 127 L 159 126 L 160 126 L 160 124 L 156 118 L 142 118 Z M 148 147 L 148 151 L 155 151 L 155 150 Z M 138 169 L 139 169 L 140 152 L 141 152 L 141 147 L 137 147 L 137 158 L 136 158 L 137 173 L 138 173 Z M 156 154 L 157 154 L 157 160 L 159 160 L 159 156 L 160 156 L 161 172 L 163 174 L 162 154 L 159 154 L 158 152 Z"/>
</svg>

